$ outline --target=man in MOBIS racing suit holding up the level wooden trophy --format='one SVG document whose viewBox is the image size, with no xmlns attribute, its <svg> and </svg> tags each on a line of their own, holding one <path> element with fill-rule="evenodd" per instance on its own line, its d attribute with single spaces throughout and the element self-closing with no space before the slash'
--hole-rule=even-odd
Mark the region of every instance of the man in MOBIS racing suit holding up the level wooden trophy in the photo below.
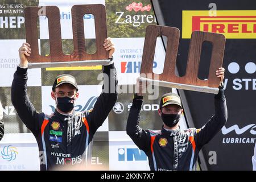
<svg viewBox="0 0 256 182">
<path fill-rule="evenodd" d="M 114 44 L 110 38 L 103 46 L 113 60 Z M 27 96 L 27 56 L 31 48 L 23 43 L 19 48 L 20 64 L 14 73 L 11 101 L 23 123 L 32 131 L 39 147 L 40 169 L 88 169 L 91 164 L 93 135 L 102 125 L 117 100 L 117 78 L 114 63 L 104 66 L 102 93 L 92 111 L 76 112 L 74 104 L 79 93 L 75 77 L 56 77 L 51 97 L 56 102 L 51 115 L 36 112 Z M 114 88 L 111 86 L 114 83 Z M 47 98 L 43 98 L 47 99 Z M 69 168 L 67 168 L 67 166 Z M 56 168 L 57 167 L 57 168 Z M 65 167 L 65 168 L 62 168 Z"/>
</svg>

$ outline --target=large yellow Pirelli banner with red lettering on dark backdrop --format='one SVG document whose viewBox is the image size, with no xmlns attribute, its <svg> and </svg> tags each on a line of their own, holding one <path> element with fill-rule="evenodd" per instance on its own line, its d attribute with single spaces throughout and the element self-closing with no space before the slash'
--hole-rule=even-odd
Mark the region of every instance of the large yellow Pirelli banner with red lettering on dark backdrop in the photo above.
<svg viewBox="0 0 256 182">
<path fill-rule="evenodd" d="M 256 10 L 183 11 L 182 38 L 190 39 L 193 31 L 224 34 L 226 39 L 256 39 Z"/>
</svg>

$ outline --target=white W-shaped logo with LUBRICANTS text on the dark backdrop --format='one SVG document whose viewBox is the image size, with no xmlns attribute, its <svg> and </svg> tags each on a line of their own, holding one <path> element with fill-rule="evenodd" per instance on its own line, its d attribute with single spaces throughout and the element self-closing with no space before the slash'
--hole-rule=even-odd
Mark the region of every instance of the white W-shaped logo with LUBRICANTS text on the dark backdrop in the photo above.
<svg viewBox="0 0 256 182">
<path fill-rule="evenodd" d="M 233 125 L 230 127 L 222 127 L 221 133 L 225 136 L 227 134 L 236 134 L 236 137 L 224 137 L 222 143 L 255 143 L 256 141 L 256 124 L 246 126 Z M 252 137 L 242 137 L 243 134 L 251 134 Z M 240 137 L 241 136 L 241 137 Z"/>
</svg>

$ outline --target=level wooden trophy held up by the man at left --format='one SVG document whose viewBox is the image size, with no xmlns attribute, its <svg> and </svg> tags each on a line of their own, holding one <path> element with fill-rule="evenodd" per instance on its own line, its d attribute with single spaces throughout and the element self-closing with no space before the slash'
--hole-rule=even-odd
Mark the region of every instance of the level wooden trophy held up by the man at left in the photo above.
<svg viewBox="0 0 256 182">
<path fill-rule="evenodd" d="M 72 27 L 74 51 L 65 55 L 62 50 L 60 10 L 56 6 L 45 6 L 45 16 L 49 27 L 49 56 L 39 55 L 38 50 L 38 12 L 42 7 L 27 7 L 24 10 L 26 40 L 31 45 L 32 53 L 28 56 L 28 68 L 71 67 L 81 65 L 108 65 L 108 51 L 102 46 L 107 36 L 106 9 L 104 5 L 72 6 Z M 93 14 L 96 31 L 96 48 L 94 54 L 85 51 L 84 15 Z"/>
</svg>

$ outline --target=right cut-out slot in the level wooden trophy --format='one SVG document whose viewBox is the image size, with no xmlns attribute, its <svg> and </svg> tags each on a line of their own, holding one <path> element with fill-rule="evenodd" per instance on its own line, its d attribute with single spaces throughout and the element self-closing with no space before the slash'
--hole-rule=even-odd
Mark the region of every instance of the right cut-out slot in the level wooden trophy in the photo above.
<svg viewBox="0 0 256 182">
<path fill-rule="evenodd" d="M 96 30 L 95 19 L 93 14 L 84 15 L 84 39 L 85 52 L 89 55 L 93 55 L 94 53 L 96 53 Z M 103 46 L 103 43 L 100 46 Z"/>
</svg>

